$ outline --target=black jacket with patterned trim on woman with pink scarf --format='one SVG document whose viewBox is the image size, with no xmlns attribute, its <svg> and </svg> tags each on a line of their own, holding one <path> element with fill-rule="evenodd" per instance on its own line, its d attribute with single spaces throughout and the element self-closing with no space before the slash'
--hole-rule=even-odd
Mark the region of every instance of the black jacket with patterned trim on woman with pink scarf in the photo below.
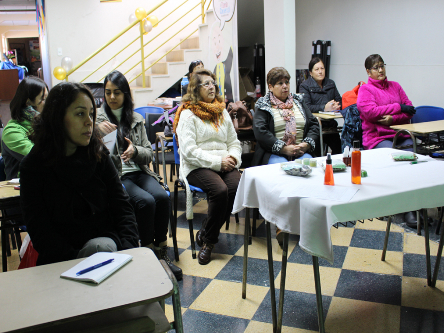
<svg viewBox="0 0 444 333">
<path fill-rule="evenodd" d="M 311 114 L 301 94 L 293 94 L 293 99 L 302 105 L 302 115 L 305 118 L 304 136 L 302 142 L 310 144 L 315 149 L 315 142 L 319 141 L 319 124 Z M 274 118 L 269 93 L 256 102 L 256 112 L 253 117 L 253 131 L 257 140 L 252 166 L 268 164 L 271 154 L 280 155 L 279 151 L 285 146 L 282 140 L 274 136 Z M 280 155 L 288 158 L 286 155 Z"/>
</svg>

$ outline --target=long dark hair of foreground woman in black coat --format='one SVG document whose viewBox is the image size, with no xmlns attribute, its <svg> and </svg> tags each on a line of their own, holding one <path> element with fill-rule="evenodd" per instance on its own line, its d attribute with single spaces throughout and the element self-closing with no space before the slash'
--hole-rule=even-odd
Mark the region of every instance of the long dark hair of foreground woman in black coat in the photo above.
<svg viewBox="0 0 444 333">
<path fill-rule="evenodd" d="M 73 104 L 78 94 L 83 93 L 89 97 L 94 108 L 94 129 L 89 145 L 86 147 L 90 159 L 100 161 L 104 149 L 102 139 L 96 128 L 96 104 L 91 91 L 82 83 L 62 82 L 51 89 L 46 98 L 43 111 L 39 117 L 34 118 L 34 124 L 29 139 L 34 143 L 33 153 L 38 154 L 47 165 L 54 165 L 65 157 L 66 133 L 63 120 L 68 107 Z"/>
</svg>

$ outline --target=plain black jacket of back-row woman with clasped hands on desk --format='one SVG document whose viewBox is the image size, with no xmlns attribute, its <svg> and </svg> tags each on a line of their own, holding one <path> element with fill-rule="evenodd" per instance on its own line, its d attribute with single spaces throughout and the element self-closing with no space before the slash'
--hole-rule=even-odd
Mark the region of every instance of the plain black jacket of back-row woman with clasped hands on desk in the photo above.
<svg viewBox="0 0 444 333">
<path fill-rule="evenodd" d="M 324 78 L 321 89 L 314 78 L 309 77 L 301 83 L 299 92 L 304 94 L 304 101 L 312 113 L 324 111 L 325 105 L 331 100 L 339 102 L 342 108 L 342 97 L 339 95 L 334 81 L 329 78 Z"/>
</svg>

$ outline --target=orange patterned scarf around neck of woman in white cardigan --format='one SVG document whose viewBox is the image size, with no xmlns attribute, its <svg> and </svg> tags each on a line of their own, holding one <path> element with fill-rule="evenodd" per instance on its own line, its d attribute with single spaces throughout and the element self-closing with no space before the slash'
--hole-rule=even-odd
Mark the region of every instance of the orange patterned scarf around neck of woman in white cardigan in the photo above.
<svg viewBox="0 0 444 333">
<path fill-rule="evenodd" d="M 182 104 L 176 112 L 173 123 L 173 133 L 176 134 L 177 145 L 179 146 L 179 140 L 177 138 L 176 128 L 179 123 L 179 118 L 183 110 L 191 110 L 200 119 L 209 120 L 211 124 L 219 131 L 219 125 L 222 123 L 222 111 L 225 109 L 225 103 L 220 103 L 217 99 L 214 99 L 211 103 L 197 102 L 196 105 L 190 102 L 185 102 Z"/>
</svg>

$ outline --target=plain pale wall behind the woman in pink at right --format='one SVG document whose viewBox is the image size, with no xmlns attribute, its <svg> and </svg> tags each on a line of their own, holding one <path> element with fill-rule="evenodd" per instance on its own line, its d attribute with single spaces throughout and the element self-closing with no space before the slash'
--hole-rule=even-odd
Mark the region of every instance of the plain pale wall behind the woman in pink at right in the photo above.
<svg viewBox="0 0 444 333">
<path fill-rule="evenodd" d="M 378 53 L 414 106 L 444 107 L 443 13 L 442 0 L 296 1 L 296 69 L 308 68 L 313 40 L 331 40 L 330 78 L 340 94 L 367 82 L 364 61 Z"/>
</svg>

